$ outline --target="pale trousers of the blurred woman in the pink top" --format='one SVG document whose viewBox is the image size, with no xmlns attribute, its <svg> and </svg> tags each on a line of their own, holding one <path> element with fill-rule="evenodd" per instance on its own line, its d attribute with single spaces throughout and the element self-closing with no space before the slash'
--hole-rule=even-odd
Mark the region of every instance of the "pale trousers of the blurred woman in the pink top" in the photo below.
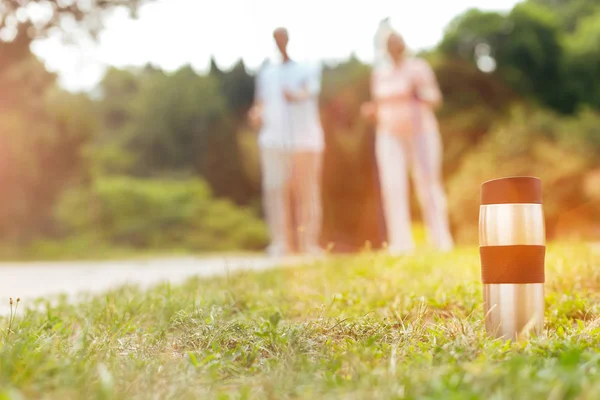
<svg viewBox="0 0 600 400">
<path fill-rule="evenodd" d="M 410 218 L 408 172 L 421 205 L 429 242 L 439 250 L 454 247 L 442 183 L 442 143 L 438 132 L 402 137 L 377 132 L 376 157 L 383 211 L 392 253 L 414 248 Z"/>
</svg>

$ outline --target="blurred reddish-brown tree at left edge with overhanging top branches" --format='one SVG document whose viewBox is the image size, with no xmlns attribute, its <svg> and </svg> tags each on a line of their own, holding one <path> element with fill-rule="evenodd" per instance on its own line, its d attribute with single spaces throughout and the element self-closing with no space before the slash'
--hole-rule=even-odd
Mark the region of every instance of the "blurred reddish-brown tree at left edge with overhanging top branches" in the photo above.
<svg viewBox="0 0 600 400">
<path fill-rule="evenodd" d="M 95 38 L 117 7 L 146 0 L 4 0 L 0 3 L 0 238 L 28 242 L 56 230 L 52 209 L 70 185 L 89 182 L 85 148 L 96 132 L 92 103 L 58 89 L 31 53 L 36 39 Z"/>
</svg>

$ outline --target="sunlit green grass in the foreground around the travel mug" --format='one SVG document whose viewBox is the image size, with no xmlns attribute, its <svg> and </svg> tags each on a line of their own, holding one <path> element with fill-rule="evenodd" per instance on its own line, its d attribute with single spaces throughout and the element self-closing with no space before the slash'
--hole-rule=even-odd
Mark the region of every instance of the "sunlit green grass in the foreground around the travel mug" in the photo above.
<svg viewBox="0 0 600 400">
<path fill-rule="evenodd" d="M 598 399 L 599 261 L 549 248 L 521 343 L 485 336 L 474 248 L 40 301 L 0 321 L 0 399 Z"/>
</svg>

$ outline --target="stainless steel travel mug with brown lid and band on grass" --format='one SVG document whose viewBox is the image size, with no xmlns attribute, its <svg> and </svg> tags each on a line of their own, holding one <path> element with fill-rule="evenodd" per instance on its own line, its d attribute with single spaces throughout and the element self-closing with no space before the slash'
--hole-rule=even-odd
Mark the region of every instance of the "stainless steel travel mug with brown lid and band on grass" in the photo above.
<svg viewBox="0 0 600 400">
<path fill-rule="evenodd" d="M 546 234 L 538 178 L 482 184 L 479 245 L 487 333 L 515 340 L 541 332 Z"/>
</svg>

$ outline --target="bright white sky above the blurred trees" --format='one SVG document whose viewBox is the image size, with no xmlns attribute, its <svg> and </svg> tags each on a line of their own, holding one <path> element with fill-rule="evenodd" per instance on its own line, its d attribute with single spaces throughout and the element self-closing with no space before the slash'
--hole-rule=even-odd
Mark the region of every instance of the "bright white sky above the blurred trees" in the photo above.
<svg viewBox="0 0 600 400">
<path fill-rule="evenodd" d="M 415 50 L 435 46 L 448 23 L 470 9 L 508 11 L 518 0 L 155 0 L 132 20 L 125 10 L 106 18 L 97 44 L 37 41 L 33 51 L 71 91 L 92 90 L 107 66 L 151 63 L 167 71 L 206 71 L 211 55 L 223 69 L 243 58 L 249 68 L 276 55 L 272 31 L 285 26 L 290 53 L 302 60 L 373 58 L 379 21 Z"/>
</svg>

